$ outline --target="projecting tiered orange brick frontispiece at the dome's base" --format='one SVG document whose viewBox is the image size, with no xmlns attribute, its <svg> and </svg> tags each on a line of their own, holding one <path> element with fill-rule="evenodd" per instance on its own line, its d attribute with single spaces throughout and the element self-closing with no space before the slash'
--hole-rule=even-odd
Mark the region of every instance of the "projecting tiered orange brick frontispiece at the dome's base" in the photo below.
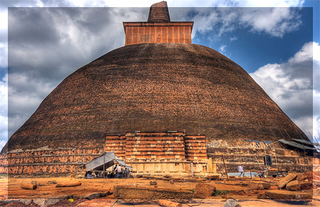
<svg viewBox="0 0 320 207">
<path fill-rule="evenodd" d="M 188 147 L 186 149 L 186 147 Z M 194 148 L 193 148 L 194 147 Z M 107 135 L 105 151 L 113 151 L 122 159 L 207 159 L 206 137 L 183 132 L 127 132 Z"/>
</svg>

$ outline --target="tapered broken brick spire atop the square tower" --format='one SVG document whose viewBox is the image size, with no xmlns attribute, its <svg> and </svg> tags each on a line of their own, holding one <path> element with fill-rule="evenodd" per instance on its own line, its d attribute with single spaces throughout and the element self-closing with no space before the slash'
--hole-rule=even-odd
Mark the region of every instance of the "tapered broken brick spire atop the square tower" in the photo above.
<svg viewBox="0 0 320 207">
<path fill-rule="evenodd" d="M 161 1 L 150 6 L 148 22 L 170 22 L 166 1 Z"/>
</svg>

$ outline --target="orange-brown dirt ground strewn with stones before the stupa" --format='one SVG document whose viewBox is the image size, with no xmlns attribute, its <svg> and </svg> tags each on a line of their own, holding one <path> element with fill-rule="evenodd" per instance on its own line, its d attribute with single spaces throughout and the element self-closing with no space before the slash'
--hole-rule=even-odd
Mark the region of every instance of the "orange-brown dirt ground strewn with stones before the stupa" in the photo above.
<svg viewBox="0 0 320 207">
<path fill-rule="evenodd" d="M 55 187 L 56 184 L 70 184 L 80 181 L 81 186 L 73 187 Z M 156 186 L 151 186 L 150 181 L 156 181 Z M 198 179 L 201 181 L 201 179 Z M 203 182 L 207 182 L 202 180 Z M 277 179 L 268 180 L 271 182 L 270 190 L 277 189 Z M 37 184 L 36 190 L 21 189 L 21 184 Z M 129 185 L 151 187 L 158 189 L 176 189 L 193 191 L 198 182 L 185 181 L 174 182 L 164 181 L 161 179 L 146 179 L 146 178 L 133 178 L 133 179 L 77 179 L 71 177 L 48 177 L 48 178 L 9 178 L 3 177 L 0 179 L 0 206 L 50 206 L 49 204 L 36 204 L 33 201 L 40 201 L 41 198 L 59 198 L 58 203 L 53 206 L 159 206 L 154 202 L 142 201 L 118 201 L 114 198 L 113 186 L 115 185 Z M 315 198 L 309 203 L 282 203 L 272 201 L 270 199 L 257 199 L 257 193 L 262 191 L 255 191 L 246 186 L 247 181 L 211 181 L 216 187 L 216 195 L 208 199 L 192 199 L 183 206 L 223 206 L 226 199 L 234 198 L 241 206 L 320 206 L 319 198 Z M 95 198 L 87 200 L 81 196 L 88 193 L 106 193 L 110 194 L 103 198 Z M 68 198 L 74 198 L 68 200 Z M 40 199 L 40 200 L 39 200 Z M 33 201 L 31 201 L 33 200 Z M 6 201 L 6 202 L 5 202 Z M 7 202 L 7 201 L 15 201 Z M 26 201 L 25 204 L 19 201 Z M 28 202 L 27 202 L 28 201 Z M 42 199 L 45 203 L 45 199 Z M 31 203 L 30 203 L 31 202 Z M 39 202 L 38 202 L 39 203 Z M 41 202 L 40 202 L 41 203 Z"/>
</svg>

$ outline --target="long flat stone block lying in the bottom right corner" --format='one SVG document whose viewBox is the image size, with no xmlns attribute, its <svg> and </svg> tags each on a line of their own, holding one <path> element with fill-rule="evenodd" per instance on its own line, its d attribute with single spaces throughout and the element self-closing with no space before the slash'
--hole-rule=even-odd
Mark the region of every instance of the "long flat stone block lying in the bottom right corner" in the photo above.
<svg viewBox="0 0 320 207">
<path fill-rule="evenodd" d="M 312 196 L 309 193 L 296 192 L 296 191 L 265 191 L 266 196 L 280 201 L 309 201 Z"/>
</svg>

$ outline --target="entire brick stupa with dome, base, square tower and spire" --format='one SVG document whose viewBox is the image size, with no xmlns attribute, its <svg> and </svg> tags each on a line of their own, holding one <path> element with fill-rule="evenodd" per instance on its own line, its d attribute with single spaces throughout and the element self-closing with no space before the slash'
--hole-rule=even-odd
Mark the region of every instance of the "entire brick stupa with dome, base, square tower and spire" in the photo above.
<svg viewBox="0 0 320 207">
<path fill-rule="evenodd" d="M 221 153 L 228 171 L 266 154 L 282 170 L 312 168 L 278 142 L 306 135 L 239 65 L 192 44 L 193 22 L 171 22 L 162 1 L 147 22 L 123 24 L 125 46 L 50 92 L 2 150 L 0 172 L 81 174 L 103 151 L 146 174 L 221 172 Z"/>
</svg>

